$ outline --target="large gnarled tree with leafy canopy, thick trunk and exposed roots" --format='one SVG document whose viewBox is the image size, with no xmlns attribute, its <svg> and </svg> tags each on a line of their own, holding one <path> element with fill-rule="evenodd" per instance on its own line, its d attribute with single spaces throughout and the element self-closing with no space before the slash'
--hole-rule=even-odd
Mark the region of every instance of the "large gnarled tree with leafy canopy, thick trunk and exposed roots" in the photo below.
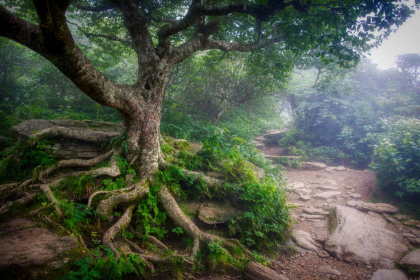
<svg viewBox="0 0 420 280">
<path fill-rule="evenodd" d="M 104 215 L 116 205 L 141 199 L 148 191 L 146 179 L 159 166 L 167 167 L 161 156 L 159 124 L 165 79 L 177 63 L 206 49 L 247 52 L 274 46 L 279 53 L 293 54 L 317 49 L 317 56 L 326 62 L 330 54 L 345 65 L 358 60 L 413 12 L 401 1 L 389 0 L 34 0 L 33 6 L 27 1 L 10 1 L 8 7 L 11 9 L 0 7 L 1 36 L 38 52 L 86 95 L 116 108 L 121 115 L 127 132 L 127 159 L 137 166 L 143 181 L 130 193 L 102 200 L 98 213 Z M 115 51 L 118 43 L 134 51 L 138 62 L 135 83 L 117 84 L 93 65 L 89 51 L 75 43 L 68 25 L 72 19 L 84 36 L 107 44 L 103 49 Z M 59 133 L 74 135 L 64 130 Z M 194 237 L 192 255 L 200 241 L 230 242 L 200 231 L 166 187 L 159 190 L 159 200 L 170 218 Z M 113 248 L 110 240 L 130 221 L 131 212 L 132 206 L 106 233 L 105 244 Z"/>
</svg>

